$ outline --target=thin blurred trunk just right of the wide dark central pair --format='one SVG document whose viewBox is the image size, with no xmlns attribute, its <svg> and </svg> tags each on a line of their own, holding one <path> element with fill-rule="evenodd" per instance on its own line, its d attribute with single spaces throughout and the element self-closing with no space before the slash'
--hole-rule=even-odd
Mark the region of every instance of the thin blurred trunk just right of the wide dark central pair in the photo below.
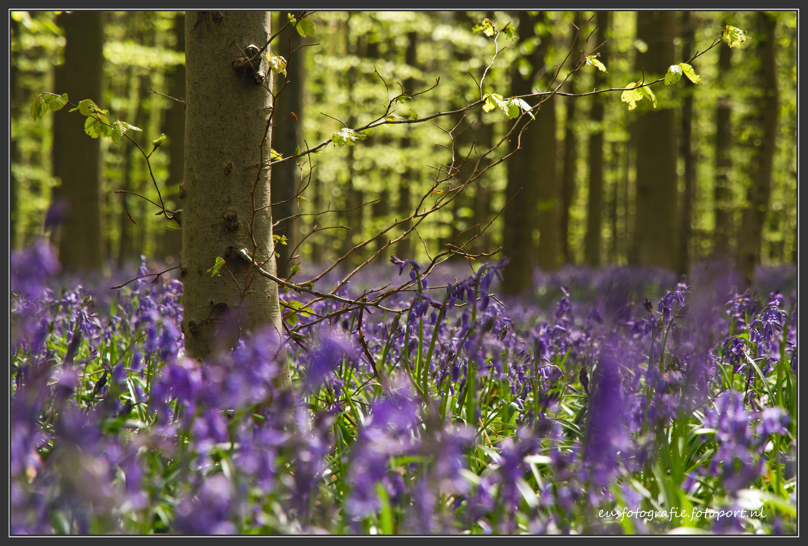
<svg viewBox="0 0 808 546">
<path fill-rule="evenodd" d="M 583 13 L 576 11 L 573 19 L 575 27 L 583 25 Z M 583 44 L 585 36 L 578 36 L 584 40 L 576 40 L 575 30 L 572 29 L 570 39 L 570 49 L 573 57 L 578 55 L 576 50 Z M 567 90 L 575 92 L 575 75 L 570 76 L 566 81 Z M 561 253 L 565 262 L 572 262 L 570 256 L 570 207 L 572 206 L 572 195 L 575 191 L 575 178 L 578 173 L 578 136 L 575 132 L 575 103 L 574 97 L 566 97 L 566 120 L 564 121 L 564 167 L 562 171 L 562 206 L 561 206 Z"/>
</svg>

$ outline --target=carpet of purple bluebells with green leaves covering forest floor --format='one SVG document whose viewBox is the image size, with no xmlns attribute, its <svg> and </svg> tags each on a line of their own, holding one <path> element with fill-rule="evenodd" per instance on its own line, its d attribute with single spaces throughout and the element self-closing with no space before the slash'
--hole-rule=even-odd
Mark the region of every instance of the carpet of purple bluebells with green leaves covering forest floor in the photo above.
<svg viewBox="0 0 808 546">
<path fill-rule="evenodd" d="M 392 261 L 341 293 L 410 275 L 400 315 L 282 293 L 282 342 L 199 363 L 179 280 L 13 254 L 11 533 L 796 532 L 793 278 L 573 268 L 507 300 L 504 260 Z"/>
</svg>

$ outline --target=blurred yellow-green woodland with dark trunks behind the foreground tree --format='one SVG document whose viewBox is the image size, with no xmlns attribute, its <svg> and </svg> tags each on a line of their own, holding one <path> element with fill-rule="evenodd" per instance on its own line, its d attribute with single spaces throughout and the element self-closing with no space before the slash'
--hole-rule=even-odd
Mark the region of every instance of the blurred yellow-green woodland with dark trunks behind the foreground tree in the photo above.
<svg viewBox="0 0 808 546">
<path fill-rule="evenodd" d="M 286 22 L 285 12 L 276 16 L 273 31 Z M 599 59 L 608 72 L 587 66 L 562 90 L 622 88 L 643 73 L 648 81 L 708 48 L 726 23 L 748 35 L 741 48 L 722 43 L 693 61 L 701 85 L 682 78 L 675 86 L 654 86 L 656 109 L 646 100 L 629 111 L 619 92 L 546 102 L 524 134 L 524 151 L 427 218 L 418 236 L 402 241 L 394 254 L 420 260 L 456 239 L 468 240 L 521 190 L 469 247 L 473 253 L 503 247 L 514 271 L 507 292 L 529 288 L 533 268 L 553 271 L 565 263 L 683 273 L 696 262 L 718 260 L 734 262 L 743 276 L 755 264 L 796 262 L 793 11 L 318 12 L 310 16 L 314 36 L 289 37 L 289 28 L 272 44 L 288 60 L 272 148 L 285 157 L 328 138 L 341 125 L 321 112 L 349 127 L 375 119 L 386 92 L 374 67 L 394 94 L 424 90 L 440 78 L 435 90 L 398 105 L 398 115 L 423 117 L 479 99 L 474 78 L 494 46 L 472 27 L 486 17 L 499 28 L 511 22 L 519 34 L 500 37 L 507 48 L 486 78 L 484 90 L 505 97 L 544 90 L 570 48 L 578 61 L 584 44 L 588 52 L 605 41 Z M 573 23 L 590 18 L 573 44 Z M 147 152 L 164 133 L 167 141 L 151 162 L 167 206 L 181 208 L 183 104 L 163 95 L 185 96 L 183 12 L 16 11 L 10 23 L 12 250 L 44 235 L 68 269 L 111 271 L 139 262 L 141 254 L 177 265 L 176 226 L 154 216 L 143 199 L 129 195 L 124 206 L 124 195 L 115 193 L 156 199 L 137 148 L 125 139 L 90 139 L 82 132 L 83 116 L 67 108 L 34 121 L 28 107 L 34 94 L 66 92 L 74 103 L 93 99 L 110 110 L 111 120 L 142 128 L 129 134 Z M 291 54 L 290 45 L 297 48 Z M 561 78 L 570 66 L 567 61 Z M 276 89 L 283 82 L 276 76 Z M 460 121 L 447 117 L 436 124 L 452 128 Z M 461 123 L 471 124 L 460 138 L 465 155 L 473 145 L 488 149 L 513 121 L 478 108 Z M 312 155 L 310 178 L 308 160 L 302 168 L 293 162 L 276 167 L 273 200 L 292 198 L 276 207 L 276 220 L 294 214 L 297 205 L 305 214 L 338 211 L 280 221 L 276 230 L 290 243 L 280 264 L 305 238 L 290 262 L 313 271 L 312 264 L 332 262 L 409 215 L 431 188 L 433 167 L 448 162 L 440 146 L 446 144 L 435 125 L 396 125 L 368 132 L 356 146 Z M 86 149 L 95 149 L 95 156 Z M 301 171 L 309 185 L 305 199 L 293 199 Z M 315 225 L 351 229 L 306 237 Z M 351 263 L 375 250 L 370 245 Z M 527 273 L 518 275 L 519 268 Z"/>
</svg>

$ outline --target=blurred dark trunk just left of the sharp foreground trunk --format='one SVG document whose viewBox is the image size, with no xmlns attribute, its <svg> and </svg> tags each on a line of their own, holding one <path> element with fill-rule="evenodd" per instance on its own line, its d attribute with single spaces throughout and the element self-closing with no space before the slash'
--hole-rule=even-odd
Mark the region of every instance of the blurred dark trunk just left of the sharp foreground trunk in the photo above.
<svg viewBox="0 0 808 546">
<path fill-rule="evenodd" d="M 177 39 L 177 51 L 185 52 L 185 14 L 179 12 L 174 18 L 174 36 Z M 170 76 L 171 86 L 168 94 L 175 99 L 185 98 L 185 65 L 176 65 L 174 73 Z M 183 170 L 185 170 L 185 105 L 175 101 L 170 101 L 166 111 L 165 129 L 163 131 L 168 136 L 168 180 L 166 188 L 168 190 L 168 201 L 171 208 L 182 208 L 179 199 L 179 184 L 183 182 Z M 173 222 L 166 223 L 170 228 L 179 228 Z M 166 262 L 174 263 L 179 261 L 179 253 L 183 247 L 182 229 L 162 228 L 160 237 L 162 256 Z"/>
</svg>

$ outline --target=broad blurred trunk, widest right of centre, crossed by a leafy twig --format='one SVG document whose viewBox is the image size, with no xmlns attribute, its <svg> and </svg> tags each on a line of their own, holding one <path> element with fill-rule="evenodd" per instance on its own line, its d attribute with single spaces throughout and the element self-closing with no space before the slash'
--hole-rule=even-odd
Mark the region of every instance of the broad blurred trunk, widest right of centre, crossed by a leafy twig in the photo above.
<svg viewBox="0 0 808 546">
<path fill-rule="evenodd" d="M 637 37 L 648 44 L 638 52 L 636 72 L 646 82 L 659 78 L 674 61 L 676 36 L 674 11 L 640 11 Z M 675 269 L 677 262 L 677 176 L 675 113 L 665 104 L 650 110 L 648 100 L 638 104 L 645 110 L 636 121 L 637 197 L 633 258 L 642 266 Z"/>
</svg>

